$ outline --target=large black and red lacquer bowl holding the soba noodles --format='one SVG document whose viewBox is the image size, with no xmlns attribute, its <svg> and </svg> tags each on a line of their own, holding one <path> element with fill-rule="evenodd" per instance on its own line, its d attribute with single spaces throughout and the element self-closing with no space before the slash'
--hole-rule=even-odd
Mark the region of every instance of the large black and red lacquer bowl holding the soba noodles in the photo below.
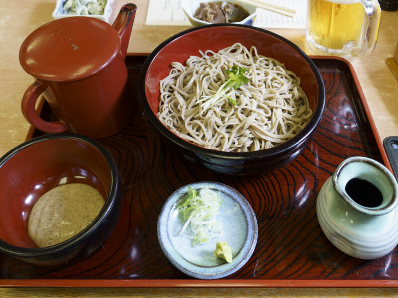
<svg viewBox="0 0 398 298">
<path fill-rule="evenodd" d="M 292 139 L 270 149 L 252 152 L 222 152 L 189 143 L 172 133 L 156 116 L 159 106 L 159 81 L 170 71 L 173 61 L 184 63 L 199 50 L 213 50 L 240 42 L 248 49 L 255 46 L 260 55 L 285 64 L 301 79 L 313 116 Z M 322 118 L 325 87 L 312 60 L 289 40 L 272 32 L 246 25 L 217 24 L 195 27 L 178 33 L 160 44 L 146 59 L 140 74 L 140 97 L 146 116 L 168 143 L 188 160 L 215 172 L 235 175 L 257 174 L 283 166 L 308 147 Z"/>
</svg>

